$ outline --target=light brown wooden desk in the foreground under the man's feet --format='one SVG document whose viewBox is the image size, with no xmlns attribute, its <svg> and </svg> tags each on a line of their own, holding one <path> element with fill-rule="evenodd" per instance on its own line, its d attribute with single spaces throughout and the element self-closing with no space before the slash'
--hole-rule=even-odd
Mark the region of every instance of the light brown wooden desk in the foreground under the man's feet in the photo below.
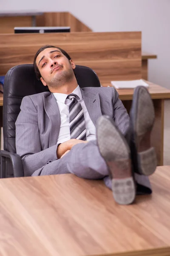
<svg viewBox="0 0 170 256">
<path fill-rule="evenodd" d="M 170 255 L 170 166 L 150 180 L 153 195 L 121 206 L 102 180 L 1 179 L 0 255 Z"/>
</svg>

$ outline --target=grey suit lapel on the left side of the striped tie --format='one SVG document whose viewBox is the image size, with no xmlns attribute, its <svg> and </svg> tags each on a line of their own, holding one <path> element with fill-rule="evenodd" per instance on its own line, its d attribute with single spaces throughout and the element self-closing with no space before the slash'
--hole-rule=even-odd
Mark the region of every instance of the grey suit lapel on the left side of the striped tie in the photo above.
<svg viewBox="0 0 170 256">
<path fill-rule="evenodd" d="M 48 126 L 48 129 L 50 129 L 49 147 L 51 147 L 57 144 L 61 123 L 59 108 L 52 93 L 49 96 L 44 97 L 44 108 L 48 118 L 50 119 L 50 125 Z"/>
</svg>

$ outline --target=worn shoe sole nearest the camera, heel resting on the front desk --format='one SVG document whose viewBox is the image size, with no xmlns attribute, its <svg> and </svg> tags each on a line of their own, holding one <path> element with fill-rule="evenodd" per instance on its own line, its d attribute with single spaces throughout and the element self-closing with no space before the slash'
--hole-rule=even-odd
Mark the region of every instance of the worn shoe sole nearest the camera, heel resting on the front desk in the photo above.
<svg viewBox="0 0 170 256">
<path fill-rule="evenodd" d="M 105 116 L 98 119 L 97 142 L 112 179 L 115 201 L 118 204 L 132 204 L 136 187 L 131 171 L 130 149 L 113 122 Z"/>
</svg>

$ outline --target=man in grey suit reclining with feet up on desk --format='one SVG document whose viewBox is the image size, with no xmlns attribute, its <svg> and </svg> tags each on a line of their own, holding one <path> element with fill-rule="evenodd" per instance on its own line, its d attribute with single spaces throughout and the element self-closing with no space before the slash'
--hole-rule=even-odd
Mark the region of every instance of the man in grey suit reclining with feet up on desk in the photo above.
<svg viewBox="0 0 170 256">
<path fill-rule="evenodd" d="M 25 176 L 73 173 L 102 179 L 119 204 L 151 193 L 145 175 L 156 168 L 150 146 L 154 108 L 144 87 L 133 96 L 130 119 L 113 87 L 79 88 L 75 64 L 64 50 L 41 47 L 37 78 L 49 92 L 23 98 L 16 121 L 16 149 Z"/>
</svg>

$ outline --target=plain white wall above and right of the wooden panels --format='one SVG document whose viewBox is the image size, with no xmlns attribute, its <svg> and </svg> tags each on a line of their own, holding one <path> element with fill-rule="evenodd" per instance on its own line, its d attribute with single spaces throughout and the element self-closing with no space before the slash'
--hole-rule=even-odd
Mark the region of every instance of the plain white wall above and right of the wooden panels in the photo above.
<svg viewBox="0 0 170 256">
<path fill-rule="evenodd" d="M 142 31 L 142 50 L 158 55 L 149 61 L 149 80 L 170 88 L 170 0 L 6 0 L 0 3 L 0 12 L 30 10 L 71 12 L 94 32 Z"/>
</svg>

